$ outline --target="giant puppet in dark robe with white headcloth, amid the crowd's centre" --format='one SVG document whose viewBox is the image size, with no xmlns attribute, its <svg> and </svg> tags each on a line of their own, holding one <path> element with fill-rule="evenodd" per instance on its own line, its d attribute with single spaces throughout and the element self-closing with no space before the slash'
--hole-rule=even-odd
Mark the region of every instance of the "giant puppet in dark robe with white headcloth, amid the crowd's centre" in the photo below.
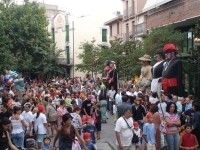
<svg viewBox="0 0 200 150">
<path fill-rule="evenodd" d="M 110 71 L 108 72 L 108 83 L 109 83 L 109 89 L 111 89 L 111 86 L 114 86 L 114 90 L 117 92 L 119 88 L 118 84 L 118 73 L 117 68 L 114 61 L 110 62 Z"/>
</svg>

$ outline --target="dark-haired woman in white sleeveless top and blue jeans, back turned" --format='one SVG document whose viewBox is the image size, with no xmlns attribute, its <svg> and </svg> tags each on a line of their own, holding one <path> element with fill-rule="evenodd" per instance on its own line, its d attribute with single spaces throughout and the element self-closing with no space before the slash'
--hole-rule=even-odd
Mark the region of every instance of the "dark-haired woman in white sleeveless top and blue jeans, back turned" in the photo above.
<svg viewBox="0 0 200 150">
<path fill-rule="evenodd" d="M 9 119 L 11 120 L 12 124 L 12 141 L 13 144 L 16 146 L 19 146 L 21 148 L 24 148 L 24 130 L 23 126 L 26 128 L 26 124 L 24 122 L 24 117 L 21 116 L 21 108 L 15 106 L 13 108 L 14 115 L 11 116 Z"/>
</svg>

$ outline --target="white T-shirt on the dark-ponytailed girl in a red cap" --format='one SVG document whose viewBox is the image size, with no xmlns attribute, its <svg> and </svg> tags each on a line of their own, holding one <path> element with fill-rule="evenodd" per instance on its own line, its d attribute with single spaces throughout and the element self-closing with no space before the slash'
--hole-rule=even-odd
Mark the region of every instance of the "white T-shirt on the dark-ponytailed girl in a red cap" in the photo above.
<svg viewBox="0 0 200 150">
<path fill-rule="evenodd" d="M 33 115 L 34 121 L 34 131 L 38 134 L 46 134 L 46 128 L 44 123 L 47 123 L 47 118 L 43 113 L 40 113 L 39 117 L 36 119 L 37 113 Z"/>
</svg>

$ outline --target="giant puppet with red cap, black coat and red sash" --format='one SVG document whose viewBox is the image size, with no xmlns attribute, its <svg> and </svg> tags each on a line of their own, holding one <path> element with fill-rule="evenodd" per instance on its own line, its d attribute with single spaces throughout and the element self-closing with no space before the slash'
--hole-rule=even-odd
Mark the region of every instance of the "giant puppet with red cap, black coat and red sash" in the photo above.
<svg viewBox="0 0 200 150">
<path fill-rule="evenodd" d="M 166 44 L 164 46 L 164 53 L 166 57 L 162 74 L 164 93 L 182 97 L 184 93 L 182 62 L 176 59 L 177 49 L 173 44 Z"/>
</svg>

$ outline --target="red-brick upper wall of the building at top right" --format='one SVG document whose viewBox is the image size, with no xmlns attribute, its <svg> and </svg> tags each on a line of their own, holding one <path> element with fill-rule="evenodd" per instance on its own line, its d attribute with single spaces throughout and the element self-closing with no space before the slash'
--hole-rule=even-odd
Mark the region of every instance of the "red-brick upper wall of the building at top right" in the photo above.
<svg viewBox="0 0 200 150">
<path fill-rule="evenodd" d="M 181 4 L 147 16 L 147 29 L 171 24 L 200 15 L 199 0 L 184 0 Z"/>
</svg>

